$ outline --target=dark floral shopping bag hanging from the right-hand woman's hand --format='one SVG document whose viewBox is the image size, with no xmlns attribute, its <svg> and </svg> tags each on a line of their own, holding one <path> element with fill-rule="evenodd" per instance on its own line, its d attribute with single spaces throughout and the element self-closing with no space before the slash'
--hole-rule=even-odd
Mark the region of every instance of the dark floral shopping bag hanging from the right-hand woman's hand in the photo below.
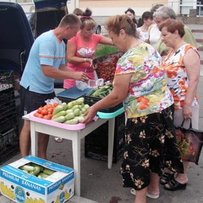
<svg viewBox="0 0 203 203">
<path fill-rule="evenodd" d="M 203 132 L 192 128 L 191 119 L 188 129 L 183 127 L 184 122 L 185 119 L 181 126 L 175 129 L 176 141 L 181 153 L 181 158 L 183 161 L 198 164 L 203 145 Z"/>
</svg>

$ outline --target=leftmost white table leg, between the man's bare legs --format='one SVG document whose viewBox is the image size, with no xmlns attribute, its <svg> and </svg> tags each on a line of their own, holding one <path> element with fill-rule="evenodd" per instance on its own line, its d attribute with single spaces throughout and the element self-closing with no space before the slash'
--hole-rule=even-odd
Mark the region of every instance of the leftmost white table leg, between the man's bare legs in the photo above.
<svg viewBox="0 0 203 203">
<path fill-rule="evenodd" d="M 35 131 L 35 123 L 30 121 L 31 154 L 38 155 L 38 132 Z"/>
</svg>

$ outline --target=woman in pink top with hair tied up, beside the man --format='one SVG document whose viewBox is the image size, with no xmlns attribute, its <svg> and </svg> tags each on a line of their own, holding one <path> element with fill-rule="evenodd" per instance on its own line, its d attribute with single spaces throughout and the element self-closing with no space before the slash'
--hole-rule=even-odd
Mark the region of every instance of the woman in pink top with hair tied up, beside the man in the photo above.
<svg viewBox="0 0 203 203">
<path fill-rule="evenodd" d="M 68 41 L 67 59 L 68 70 L 82 71 L 87 74 L 89 79 L 95 79 L 95 72 L 92 66 L 92 59 L 99 43 L 110 44 L 110 38 L 94 34 L 96 22 L 91 18 L 92 11 L 86 9 L 81 16 L 82 25 L 80 31 L 75 37 Z M 64 80 L 64 88 L 68 89 L 75 86 L 75 81 L 71 79 Z"/>
</svg>

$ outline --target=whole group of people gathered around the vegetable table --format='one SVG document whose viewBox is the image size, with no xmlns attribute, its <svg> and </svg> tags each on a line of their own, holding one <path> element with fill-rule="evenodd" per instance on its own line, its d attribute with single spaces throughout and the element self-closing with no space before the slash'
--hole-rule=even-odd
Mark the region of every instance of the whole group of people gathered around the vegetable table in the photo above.
<svg viewBox="0 0 203 203">
<path fill-rule="evenodd" d="M 126 131 L 120 173 L 123 186 L 135 195 L 134 203 L 159 198 L 160 183 L 170 191 L 185 189 L 189 163 L 181 159 L 175 127 L 183 119 L 185 125 L 192 119 L 198 129 L 200 57 L 192 32 L 164 5 L 145 11 L 138 21 L 132 8 L 110 17 L 108 37 L 95 34 L 95 27 L 91 10 L 77 9 L 35 40 L 20 82 L 24 112 L 55 95 L 54 79 L 64 79 L 66 89 L 75 86 L 75 80 L 95 79 L 92 60 L 97 45 L 114 45 L 123 55 L 116 64 L 113 90 L 90 107 L 84 123 L 91 122 L 99 110 L 123 102 Z M 67 47 L 63 39 L 68 40 Z M 40 134 L 42 158 L 48 140 L 48 135 Z M 20 149 L 22 156 L 29 154 L 27 120 Z"/>
</svg>

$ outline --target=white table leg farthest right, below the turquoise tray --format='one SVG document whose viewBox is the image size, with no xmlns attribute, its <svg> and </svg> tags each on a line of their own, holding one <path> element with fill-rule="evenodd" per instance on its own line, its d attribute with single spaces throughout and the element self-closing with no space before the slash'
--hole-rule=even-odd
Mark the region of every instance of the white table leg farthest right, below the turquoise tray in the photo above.
<svg viewBox="0 0 203 203">
<path fill-rule="evenodd" d="M 113 161 L 113 143 L 115 131 L 115 118 L 108 121 L 108 168 L 111 169 Z"/>
</svg>

